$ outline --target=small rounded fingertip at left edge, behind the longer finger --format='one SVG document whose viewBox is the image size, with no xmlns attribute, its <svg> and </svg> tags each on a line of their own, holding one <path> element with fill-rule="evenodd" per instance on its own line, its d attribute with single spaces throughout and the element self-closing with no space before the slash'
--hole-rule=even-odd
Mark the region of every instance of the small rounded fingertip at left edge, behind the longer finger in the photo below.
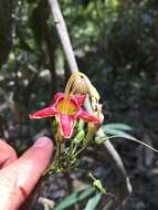
<svg viewBox="0 0 158 210">
<path fill-rule="evenodd" d="M 14 149 L 7 143 L 0 140 L 0 168 L 3 168 L 17 159 Z"/>
</svg>

